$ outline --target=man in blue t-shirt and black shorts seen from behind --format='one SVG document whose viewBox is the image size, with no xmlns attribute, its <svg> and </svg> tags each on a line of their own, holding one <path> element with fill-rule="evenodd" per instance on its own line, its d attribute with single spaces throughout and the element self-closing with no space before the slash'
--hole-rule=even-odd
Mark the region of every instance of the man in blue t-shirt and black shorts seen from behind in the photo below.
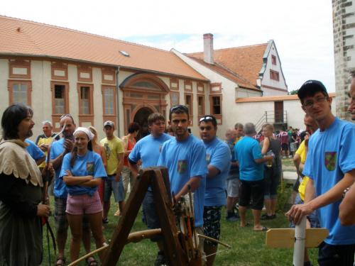
<svg viewBox="0 0 355 266">
<path fill-rule="evenodd" d="M 239 214 L 241 227 L 246 227 L 246 209 L 251 205 L 254 218 L 254 231 L 267 231 L 268 228 L 261 226 L 260 217 L 263 209 L 264 182 L 263 163 L 273 160 L 272 155 L 261 155 L 261 147 L 257 140 L 253 123 L 244 126 L 244 137 L 234 146 L 236 160 L 239 162 Z M 251 202 L 251 204 L 250 204 Z"/>
</svg>

